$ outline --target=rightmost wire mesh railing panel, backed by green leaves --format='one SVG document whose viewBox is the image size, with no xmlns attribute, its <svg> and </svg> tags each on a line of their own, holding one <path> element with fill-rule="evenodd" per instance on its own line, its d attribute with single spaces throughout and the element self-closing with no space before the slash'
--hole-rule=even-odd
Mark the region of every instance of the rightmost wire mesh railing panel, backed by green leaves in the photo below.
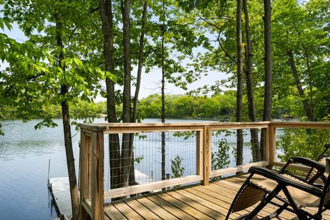
<svg viewBox="0 0 330 220">
<path fill-rule="evenodd" d="M 275 161 L 287 162 L 295 156 L 318 159 L 329 142 L 330 129 L 276 128 Z"/>
</svg>

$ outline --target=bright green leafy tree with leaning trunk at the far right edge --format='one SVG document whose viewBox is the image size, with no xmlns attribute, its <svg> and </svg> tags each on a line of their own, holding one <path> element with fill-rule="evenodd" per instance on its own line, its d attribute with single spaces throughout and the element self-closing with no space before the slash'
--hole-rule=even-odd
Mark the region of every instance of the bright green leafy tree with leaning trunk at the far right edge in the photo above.
<svg viewBox="0 0 330 220">
<path fill-rule="evenodd" d="M 274 56 L 276 83 L 292 89 L 305 111 L 303 120 L 322 120 L 327 115 L 324 72 L 329 65 L 329 1 L 274 1 Z M 329 7 L 328 7 L 329 8 Z M 281 37 L 282 36 L 282 37 Z M 283 38 L 283 36 L 285 36 Z M 280 69 L 281 68 L 281 69 Z M 279 90 L 280 96 L 287 90 Z"/>
</svg>

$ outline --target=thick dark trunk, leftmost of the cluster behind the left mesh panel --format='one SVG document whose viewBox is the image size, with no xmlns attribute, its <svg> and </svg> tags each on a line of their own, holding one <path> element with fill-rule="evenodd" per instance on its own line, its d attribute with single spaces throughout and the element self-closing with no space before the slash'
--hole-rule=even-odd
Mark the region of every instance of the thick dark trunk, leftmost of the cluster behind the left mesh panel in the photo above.
<svg viewBox="0 0 330 220">
<path fill-rule="evenodd" d="M 105 70 L 113 74 L 113 15 L 111 0 L 99 0 L 99 12 L 102 20 L 104 65 Z M 115 116 L 115 83 L 106 78 L 107 87 L 107 120 L 117 122 Z M 120 186 L 120 144 L 118 134 L 109 135 L 109 162 L 111 188 Z"/>
</svg>

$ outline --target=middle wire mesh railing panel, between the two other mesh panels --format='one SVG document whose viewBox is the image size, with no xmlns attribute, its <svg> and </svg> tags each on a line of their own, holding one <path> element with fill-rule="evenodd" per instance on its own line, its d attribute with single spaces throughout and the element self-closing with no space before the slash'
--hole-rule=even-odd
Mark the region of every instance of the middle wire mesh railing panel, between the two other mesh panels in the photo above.
<svg viewBox="0 0 330 220">
<path fill-rule="evenodd" d="M 212 131 L 212 171 L 263 160 L 261 129 Z"/>
</svg>

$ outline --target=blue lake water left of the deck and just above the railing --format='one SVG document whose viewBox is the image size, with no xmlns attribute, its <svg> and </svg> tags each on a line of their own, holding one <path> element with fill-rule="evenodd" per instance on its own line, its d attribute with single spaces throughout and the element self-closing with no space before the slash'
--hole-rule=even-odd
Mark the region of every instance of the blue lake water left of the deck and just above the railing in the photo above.
<svg viewBox="0 0 330 220">
<path fill-rule="evenodd" d="M 47 190 L 48 162 L 50 177 L 67 176 L 61 120 L 58 127 L 34 130 L 38 120 L 1 122 L 0 136 L 0 219 L 52 219 L 56 212 Z M 96 122 L 104 122 L 97 119 Z M 159 122 L 146 119 L 144 122 Z M 210 122 L 203 120 L 166 120 L 166 122 Z M 72 131 L 74 135 L 76 131 Z M 72 138 L 76 170 L 78 170 L 78 139 Z"/>
</svg>

